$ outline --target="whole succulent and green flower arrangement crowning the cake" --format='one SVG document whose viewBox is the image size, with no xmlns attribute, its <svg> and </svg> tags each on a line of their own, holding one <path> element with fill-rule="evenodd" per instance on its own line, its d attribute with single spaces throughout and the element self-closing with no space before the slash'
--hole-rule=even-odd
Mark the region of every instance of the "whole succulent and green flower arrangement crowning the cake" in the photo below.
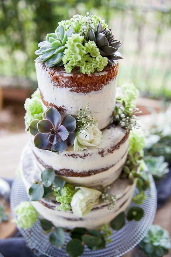
<svg viewBox="0 0 171 257">
<path fill-rule="evenodd" d="M 67 73 L 79 67 L 81 73 L 91 74 L 122 59 L 118 52 L 121 45 L 104 20 L 91 13 L 77 14 L 59 22 L 55 32 L 46 35 L 38 44 L 35 61 L 46 67 L 64 66 Z"/>
</svg>

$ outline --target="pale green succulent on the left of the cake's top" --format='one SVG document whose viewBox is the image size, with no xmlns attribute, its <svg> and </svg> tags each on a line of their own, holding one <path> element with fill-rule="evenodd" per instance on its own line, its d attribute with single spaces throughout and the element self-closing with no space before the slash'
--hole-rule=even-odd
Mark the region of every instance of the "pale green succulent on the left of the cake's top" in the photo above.
<svg viewBox="0 0 171 257">
<path fill-rule="evenodd" d="M 39 55 L 35 62 L 45 62 L 46 67 L 62 66 L 62 58 L 64 56 L 65 43 L 73 33 L 73 29 L 65 31 L 64 26 L 60 25 L 56 28 L 55 33 L 46 35 L 46 40 L 38 44 L 40 49 L 35 51 Z"/>
</svg>

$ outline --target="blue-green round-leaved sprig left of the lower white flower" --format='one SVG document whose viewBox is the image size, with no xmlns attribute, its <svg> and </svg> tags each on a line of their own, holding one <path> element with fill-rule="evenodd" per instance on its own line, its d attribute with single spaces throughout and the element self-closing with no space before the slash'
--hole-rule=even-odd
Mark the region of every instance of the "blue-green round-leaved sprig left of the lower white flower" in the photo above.
<svg viewBox="0 0 171 257">
<path fill-rule="evenodd" d="M 55 188 L 61 193 L 65 185 L 65 180 L 55 176 L 52 169 L 45 169 L 41 174 L 41 179 L 41 181 L 35 181 L 29 188 L 28 193 L 31 201 L 39 201 L 41 198 L 47 197 Z"/>
</svg>

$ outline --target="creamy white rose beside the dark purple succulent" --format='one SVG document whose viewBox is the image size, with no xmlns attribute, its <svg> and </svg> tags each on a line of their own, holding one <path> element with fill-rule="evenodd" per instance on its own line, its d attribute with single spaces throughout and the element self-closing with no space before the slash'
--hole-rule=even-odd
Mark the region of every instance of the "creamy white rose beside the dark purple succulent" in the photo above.
<svg viewBox="0 0 171 257">
<path fill-rule="evenodd" d="M 98 128 L 98 124 L 91 125 L 81 132 L 76 133 L 74 140 L 74 151 L 87 149 L 87 146 L 98 147 L 103 139 L 102 132 Z"/>
</svg>

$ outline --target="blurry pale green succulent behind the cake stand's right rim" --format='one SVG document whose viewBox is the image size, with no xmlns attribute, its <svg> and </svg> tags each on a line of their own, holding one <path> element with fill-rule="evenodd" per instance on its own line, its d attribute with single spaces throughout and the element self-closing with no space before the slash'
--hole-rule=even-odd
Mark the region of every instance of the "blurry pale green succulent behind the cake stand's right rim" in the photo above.
<svg viewBox="0 0 171 257">
<path fill-rule="evenodd" d="M 149 172 L 155 180 L 160 180 L 169 171 L 168 163 L 164 162 L 164 156 L 146 156 L 144 161 L 148 167 Z"/>
</svg>

